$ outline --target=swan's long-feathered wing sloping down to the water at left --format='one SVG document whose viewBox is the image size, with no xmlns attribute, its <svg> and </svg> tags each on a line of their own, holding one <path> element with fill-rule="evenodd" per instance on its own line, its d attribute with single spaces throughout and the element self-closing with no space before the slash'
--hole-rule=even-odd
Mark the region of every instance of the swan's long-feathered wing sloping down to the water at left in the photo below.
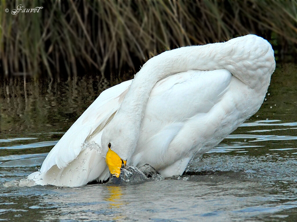
<svg viewBox="0 0 297 222">
<path fill-rule="evenodd" d="M 132 80 L 125 81 L 103 91 L 62 136 L 45 158 L 40 173 L 52 166 L 66 167 L 81 152 L 83 142 L 98 127 L 104 127 L 110 117 L 118 110 Z"/>
</svg>

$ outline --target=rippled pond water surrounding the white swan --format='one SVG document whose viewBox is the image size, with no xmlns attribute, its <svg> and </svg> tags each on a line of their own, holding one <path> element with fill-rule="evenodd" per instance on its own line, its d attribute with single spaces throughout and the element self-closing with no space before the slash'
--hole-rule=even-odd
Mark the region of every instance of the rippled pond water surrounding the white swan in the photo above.
<svg viewBox="0 0 297 222">
<path fill-rule="evenodd" d="M 184 176 L 127 186 L 3 186 L 36 171 L 97 95 L 120 81 L 1 81 L 0 221 L 296 221 L 294 64 L 277 64 L 260 110 Z"/>
</svg>

